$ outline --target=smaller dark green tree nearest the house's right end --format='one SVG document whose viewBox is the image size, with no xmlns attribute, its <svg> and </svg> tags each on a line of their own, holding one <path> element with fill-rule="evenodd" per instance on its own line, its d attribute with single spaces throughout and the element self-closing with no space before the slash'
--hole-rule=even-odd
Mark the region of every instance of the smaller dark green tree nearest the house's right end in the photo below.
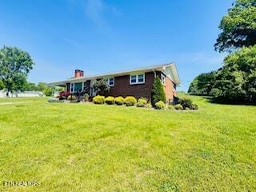
<svg viewBox="0 0 256 192">
<path fill-rule="evenodd" d="M 196 78 L 194 78 L 193 82 L 190 83 L 188 93 L 195 95 L 210 95 L 212 86 L 214 84 L 215 74 L 216 71 L 199 74 Z"/>
</svg>

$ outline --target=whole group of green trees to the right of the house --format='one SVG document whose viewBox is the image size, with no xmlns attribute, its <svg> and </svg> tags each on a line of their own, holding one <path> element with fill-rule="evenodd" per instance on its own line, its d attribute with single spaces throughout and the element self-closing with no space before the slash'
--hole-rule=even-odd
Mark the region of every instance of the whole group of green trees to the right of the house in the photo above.
<svg viewBox="0 0 256 192">
<path fill-rule="evenodd" d="M 212 95 L 216 101 L 256 104 L 256 1 L 237 0 L 222 18 L 215 50 L 227 51 L 219 70 L 200 74 L 189 94 Z"/>
</svg>

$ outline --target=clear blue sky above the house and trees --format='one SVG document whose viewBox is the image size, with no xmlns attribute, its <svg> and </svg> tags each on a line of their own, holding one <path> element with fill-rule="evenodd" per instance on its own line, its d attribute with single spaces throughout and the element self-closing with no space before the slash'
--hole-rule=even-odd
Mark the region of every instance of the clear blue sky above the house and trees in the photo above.
<svg viewBox="0 0 256 192">
<path fill-rule="evenodd" d="M 98 74 L 176 62 L 187 90 L 222 66 L 214 51 L 231 0 L 38 0 L 0 2 L 0 46 L 18 46 L 36 65 L 30 82 L 54 82 L 75 69 Z"/>
</svg>

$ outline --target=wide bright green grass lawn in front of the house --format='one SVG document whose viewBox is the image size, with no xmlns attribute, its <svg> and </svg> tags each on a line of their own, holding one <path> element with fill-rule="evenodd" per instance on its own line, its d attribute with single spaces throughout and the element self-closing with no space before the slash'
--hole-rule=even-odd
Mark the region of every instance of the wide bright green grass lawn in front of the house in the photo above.
<svg viewBox="0 0 256 192">
<path fill-rule="evenodd" d="M 198 111 L 0 99 L 0 182 L 40 182 L 0 191 L 255 191 L 256 106 L 191 98 Z"/>
</svg>

